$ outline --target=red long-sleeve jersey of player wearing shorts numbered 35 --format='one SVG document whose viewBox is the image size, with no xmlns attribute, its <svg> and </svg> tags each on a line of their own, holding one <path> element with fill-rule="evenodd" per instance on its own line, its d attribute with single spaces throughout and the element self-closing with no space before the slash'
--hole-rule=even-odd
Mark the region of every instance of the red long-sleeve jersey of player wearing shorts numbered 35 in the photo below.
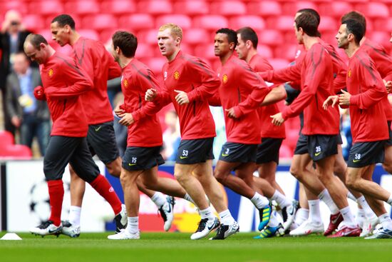
<svg viewBox="0 0 392 262">
<path fill-rule="evenodd" d="M 324 101 L 334 94 L 334 74 L 331 56 L 324 46 L 316 43 L 306 51 L 301 63 L 286 69 L 267 71 L 263 79 L 282 83 L 301 79 L 301 93 L 294 102 L 282 111 L 282 117 L 298 116 L 304 111 L 304 135 L 335 135 L 339 133 L 339 111 L 325 111 Z"/>
</svg>

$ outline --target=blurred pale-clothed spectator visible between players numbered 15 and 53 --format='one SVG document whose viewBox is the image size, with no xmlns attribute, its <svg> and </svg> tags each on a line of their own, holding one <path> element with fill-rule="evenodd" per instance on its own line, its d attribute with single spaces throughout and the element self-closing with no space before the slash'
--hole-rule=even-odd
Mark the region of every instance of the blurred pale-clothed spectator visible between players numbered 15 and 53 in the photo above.
<svg viewBox="0 0 392 262">
<path fill-rule="evenodd" d="M 180 146 L 180 122 L 174 110 L 167 111 L 165 114 L 165 124 L 167 129 L 163 132 L 163 151 L 162 156 L 167 161 L 175 161 L 177 148 Z"/>
</svg>

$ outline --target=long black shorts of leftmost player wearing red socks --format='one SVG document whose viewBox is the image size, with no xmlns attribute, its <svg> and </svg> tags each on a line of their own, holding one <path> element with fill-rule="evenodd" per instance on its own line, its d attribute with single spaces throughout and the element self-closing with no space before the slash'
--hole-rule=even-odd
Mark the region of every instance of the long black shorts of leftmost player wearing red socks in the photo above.
<svg viewBox="0 0 392 262">
<path fill-rule="evenodd" d="M 86 138 L 51 136 L 43 158 L 43 173 L 46 180 L 63 178 L 68 163 L 71 163 L 78 176 L 88 183 L 99 174 L 99 168 L 88 151 Z"/>
</svg>

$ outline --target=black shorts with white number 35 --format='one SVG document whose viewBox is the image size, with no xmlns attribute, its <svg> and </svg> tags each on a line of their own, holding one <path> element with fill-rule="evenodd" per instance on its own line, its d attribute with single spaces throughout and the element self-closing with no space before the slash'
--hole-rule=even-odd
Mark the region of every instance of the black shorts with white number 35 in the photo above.
<svg viewBox="0 0 392 262">
<path fill-rule="evenodd" d="M 308 139 L 308 153 L 314 162 L 338 153 L 338 135 L 312 135 Z"/>
</svg>

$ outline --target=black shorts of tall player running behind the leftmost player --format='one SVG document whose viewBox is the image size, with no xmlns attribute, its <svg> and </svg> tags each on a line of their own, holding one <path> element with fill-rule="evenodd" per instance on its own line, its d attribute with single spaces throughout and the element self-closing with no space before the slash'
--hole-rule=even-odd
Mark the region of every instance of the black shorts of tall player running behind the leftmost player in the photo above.
<svg viewBox="0 0 392 262">
<path fill-rule="evenodd" d="M 105 164 L 120 156 L 115 143 L 113 121 L 88 126 L 87 142 L 91 155 L 97 155 Z"/>
</svg>

